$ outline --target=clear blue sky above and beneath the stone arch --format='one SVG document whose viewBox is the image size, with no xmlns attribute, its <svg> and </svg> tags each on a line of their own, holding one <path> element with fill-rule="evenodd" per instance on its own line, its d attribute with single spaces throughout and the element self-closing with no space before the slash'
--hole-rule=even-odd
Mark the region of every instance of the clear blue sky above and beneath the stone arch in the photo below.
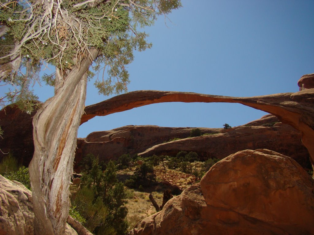
<svg viewBox="0 0 314 235">
<path fill-rule="evenodd" d="M 145 29 L 153 48 L 135 52 L 128 91 L 190 91 L 250 97 L 298 91 L 314 73 L 314 1 L 182 0 Z M 53 89 L 40 89 L 41 101 Z M 108 99 L 89 82 L 86 105 Z M 265 115 L 240 104 L 161 103 L 95 117 L 78 137 L 125 125 L 222 128 Z"/>
</svg>

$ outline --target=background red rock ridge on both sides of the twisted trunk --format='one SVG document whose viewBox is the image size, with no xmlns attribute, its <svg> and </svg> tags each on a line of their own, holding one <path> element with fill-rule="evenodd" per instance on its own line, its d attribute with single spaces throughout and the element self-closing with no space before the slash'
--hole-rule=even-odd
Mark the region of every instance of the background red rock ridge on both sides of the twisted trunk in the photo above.
<svg viewBox="0 0 314 235">
<path fill-rule="evenodd" d="M 28 166 L 34 152 L 32 138 L 32 116 L 16 107 L 0 111 L 0 126 L 3 139 L 0 149 L 11 152 L 19 161 Z M 90 133 L 86 138 L 77 139 L 75 162 L 86 154 L 99 156 L 100 161 L 117 159 L 122 154 L 139 154 L 143 157 L 176 155 L 179 151 L 197 152 L 202 160 L 223 159 L 244 149 L 272 149 L 290 156 L 305 168 L 311 168 L 307 149 L 301 143 L 300 131 L 280 123 L 273 115 L 247 123 L 243 126 L 223 128 L 199 128 L 203 136 L 190 138 L 195 128 L 170 128 L 159 126 L 125 126 L 109 131 Z M 173 139 L 177 139 L 171 141 Z M 3 154 L 0 153 L 0 159 Z M 75 170 L 79 171 L 77 165 Z"/>
</svg>

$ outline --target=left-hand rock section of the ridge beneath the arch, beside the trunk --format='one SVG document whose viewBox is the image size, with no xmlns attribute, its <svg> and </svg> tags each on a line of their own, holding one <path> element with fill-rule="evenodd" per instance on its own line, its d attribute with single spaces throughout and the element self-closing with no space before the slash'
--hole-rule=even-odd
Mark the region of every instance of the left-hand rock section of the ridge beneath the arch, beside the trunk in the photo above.
<svg viewBox="0 0 314 235">
<path fill-rule="evenodd" d="M 75 162 L 79 162 L 82 156 L 89 153 L 98 155 L 100 160 L 116 160 L 122 154 L 137 154 L 173 138 L 187 138 L 192 129 L 146 125 L 125 126 L 110 131 L 93 132 L 86 138 L 78 138 Z M 222 128 L 200 129 L 202 133 L 218 133 Z"/>
</svg>

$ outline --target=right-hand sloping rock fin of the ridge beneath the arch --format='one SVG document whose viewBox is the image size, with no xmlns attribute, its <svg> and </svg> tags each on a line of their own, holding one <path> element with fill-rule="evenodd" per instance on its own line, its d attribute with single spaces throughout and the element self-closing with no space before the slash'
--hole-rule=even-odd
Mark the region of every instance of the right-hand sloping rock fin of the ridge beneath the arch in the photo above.
<svg viewBox="0 0 314 235">
<path fill-rule="evenodd" d="M 261 122 L 262 120 L 263 118 L 259 119 Z M 255 124 L 257 123 L 258 121 Z M 223 159 L 245 149 L 268 148 L 295 159 L 303 167 L 311 168 L 308 151 L 301 143 L 300 132 L 287 124 L 239 126 L 223 129 L 221 132 L 154 145 L 138 155 L 143 157 L 153 154 L 176 155 L 183 150 L 197 152 L 202 160 L 206 160 L 208 158 Z"/>
</svg>

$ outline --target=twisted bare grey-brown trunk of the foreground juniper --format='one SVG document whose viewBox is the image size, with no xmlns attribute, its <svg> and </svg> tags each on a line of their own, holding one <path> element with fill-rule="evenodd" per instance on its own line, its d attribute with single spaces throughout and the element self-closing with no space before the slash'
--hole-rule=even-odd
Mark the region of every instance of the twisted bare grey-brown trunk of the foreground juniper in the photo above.
<svg viewBox="0 0 314 235">
<path fill-rule="evenodd" d="M 90 50 L 90 56 L 68 74 L 62 76 L 57 71 L 55 96 L 34 116 L 35 152 L 29 170 L 36 235 L 64 233 L 76 137 L 86 98 L 87 70 L 97 55 L 98 50 Z"/>
</svg>

